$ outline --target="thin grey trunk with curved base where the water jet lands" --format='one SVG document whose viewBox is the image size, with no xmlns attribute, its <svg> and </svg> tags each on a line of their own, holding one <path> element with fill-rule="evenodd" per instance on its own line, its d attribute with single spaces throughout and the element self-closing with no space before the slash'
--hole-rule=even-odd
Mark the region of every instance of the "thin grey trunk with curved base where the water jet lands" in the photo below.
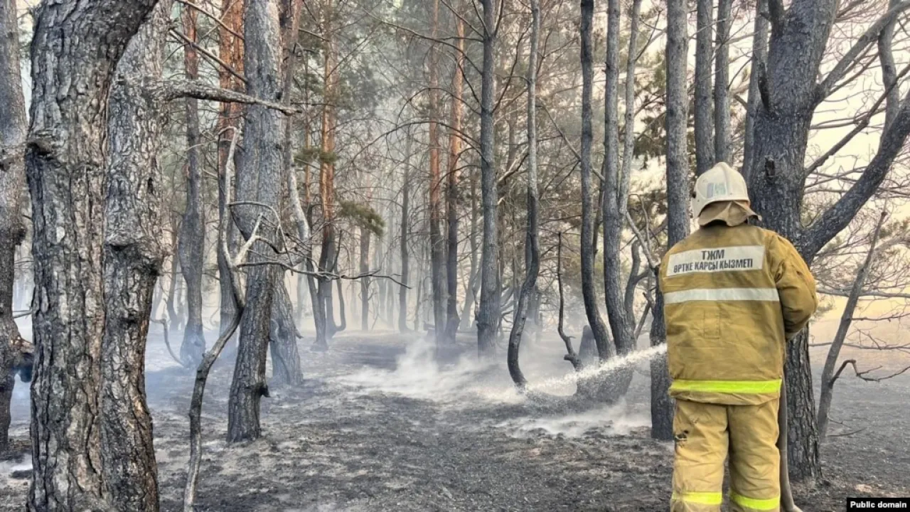
<svg viewBox="0 0 910 512">
<path fill-rule="evenodd" d="M 526 277 L 521 285 L 521 294 L 515 306 L 515 322 L 509 333 L 509 374 L 512 381 L 523 387 L 527 381 L 519 367 L 519 348 L 521 333 L 524 330 L 528 302 L 531 300 L 537 284 L 537 274 L 541 270 L 541 246 L 538 240 L 538 193 L 537 193 L 537 60 L 538 41 L 541 32 L 541 5 L 538 0 L 531 0 L 531 53 L 528 55 L 528 241 L 529 258 Z"/>
</svg>

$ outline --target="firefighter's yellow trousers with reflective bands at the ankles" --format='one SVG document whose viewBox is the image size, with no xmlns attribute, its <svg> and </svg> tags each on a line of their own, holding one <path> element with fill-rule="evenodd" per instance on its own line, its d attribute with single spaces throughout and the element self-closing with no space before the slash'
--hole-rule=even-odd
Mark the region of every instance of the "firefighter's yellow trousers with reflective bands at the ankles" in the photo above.
<svg viewBox="0 0 910 512">
<path fill-rule="evenodd" d="M 760 405 L 676 401 L 671 512 L 718 512 L 730 456 L 730 509 L 780 511 L 778 400 Z"/>
</svg>

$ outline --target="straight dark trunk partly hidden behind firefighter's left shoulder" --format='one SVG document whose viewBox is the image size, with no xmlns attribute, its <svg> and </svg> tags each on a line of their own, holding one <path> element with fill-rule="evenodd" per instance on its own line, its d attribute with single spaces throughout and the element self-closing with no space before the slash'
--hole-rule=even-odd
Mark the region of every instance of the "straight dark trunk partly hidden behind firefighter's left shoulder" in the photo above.
<svg viewBox="0 0 910 512">
<path fill-rule="evenodd" d="M 667 3 L 667 247 L 682 241 L 689 234 L 689 151 L 686 140 L 688 124 L 688 79 L 686 55 L 689 39 L 686 34 L 686 3 L 670 0 Z M 651 344 L 667 343 L 663 318 L 663 296 L 660 287 L 654 298 Z M 672 438 L 672 400 L 668 394 L 670 374 L 666 356 L 655 358 L 651 364 L 651 435 L 657 439 Z"/>
</svg>

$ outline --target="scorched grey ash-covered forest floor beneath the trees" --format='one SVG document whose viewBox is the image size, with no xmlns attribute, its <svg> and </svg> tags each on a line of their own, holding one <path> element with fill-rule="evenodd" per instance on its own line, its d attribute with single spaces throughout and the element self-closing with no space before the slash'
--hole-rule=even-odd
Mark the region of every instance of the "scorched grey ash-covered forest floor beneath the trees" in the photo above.
<svg viewBox="0 0 910 512">
<path fill-rule="evenodd" d="M 430 363 L 427 344 L 399 334 L 340 335 L 329 353 L 301 343 L 307 383 L 263 399 L 263 438 L 227 445 L 231 365 L 217 365 L 204 410 L 206 460 L 198 506 L 210 511 L 653 511 L 670 497 L 672 445 L 649 438 L 647 364 L 628 404 L 541 409 L 512 391 L 502 366 L 474 363 L 470 339 Z M 546 347 L 544 347 L 546 345 Z M 543 347 L 543 348 L 541 348 Z M 550 347 L 554 347 L 552 350 Z M 556 340 L 529 345 L 525 373 L 542 391 L 571 393 Z M 147 387 L 164 510 L 186 477 L 190 375 L 149 342 Z M 504 354 L 501 359 L 504 359 Z M 842 378 L 824 486 L 801 490 L 810 511 L 843 511 L 847 496 L 910 496 L 910 377 Z M 27 450 L 27 396 L 13 435 Z M 22 510 L 27 456 L 0 460 L 0 511 Z"/>
</svg>

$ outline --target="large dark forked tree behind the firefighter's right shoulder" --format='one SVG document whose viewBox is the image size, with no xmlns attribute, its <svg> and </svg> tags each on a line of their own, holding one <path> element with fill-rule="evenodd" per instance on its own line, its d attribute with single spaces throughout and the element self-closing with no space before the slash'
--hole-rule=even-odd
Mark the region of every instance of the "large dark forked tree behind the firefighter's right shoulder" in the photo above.
<svg viewBox="0 0 910 512">
<path fill-rule="evenodd" d="M 750 192 L 753 208 L 763 215 L 765 226 L 794 241 L 804 259 L 811 262 L 854 219 L 887 176 L 910 134 L 910 97 L 900 105 L 895 103 L 897 97 L 888 98 L 885 108 L 891 110 L 893 118 L 882 133 L 875 156 L 840 199 L 811 226 L 804 227 L 802 205 L 808 175 L 804 161 L 815 108 L 853 67 L 855 52 L 862 53 L 875 37 L 864 37 L 819 83 L 837 2 L 801 0 L 785 11 L 782 7 L 772 2 L 769 9 L 772 35 L 767 66 L 759 69 L 762 105 L 757 108 L 754 123 Z M 869 28 L 871 34 L 879 36 L 906 8 L 903 3 L 889 6 L 887 14 Z M 791 476 L 814 483 L 821 476 L 821 463 L 807 341 L 803 333 L 787 343 L 788 452 Z"/>
</svg>

